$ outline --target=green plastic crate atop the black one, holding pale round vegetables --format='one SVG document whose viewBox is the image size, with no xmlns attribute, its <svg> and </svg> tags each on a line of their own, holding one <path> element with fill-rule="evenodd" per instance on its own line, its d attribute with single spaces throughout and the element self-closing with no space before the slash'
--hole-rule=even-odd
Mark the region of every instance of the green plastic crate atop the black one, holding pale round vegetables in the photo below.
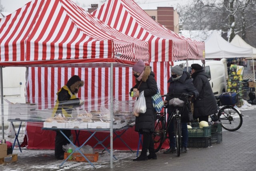
<svg viewBox="0 0 256 171">
<path fill-rule="evenodd" d="M 188 137 L 210 137 L 211 133 L 211 126 L 203 128 L 192 127 L 188 129 Z"/>
</svg>

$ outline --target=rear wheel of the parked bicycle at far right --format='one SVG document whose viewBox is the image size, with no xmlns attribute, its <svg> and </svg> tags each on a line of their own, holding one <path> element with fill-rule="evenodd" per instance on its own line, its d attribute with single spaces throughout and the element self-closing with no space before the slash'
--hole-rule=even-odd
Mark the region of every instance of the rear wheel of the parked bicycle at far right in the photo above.
<svg viewBox="0 0 256 171">
<path fill-rule="evenodd" d="M 222 127 L 228 131 L 238 130 L 243 123 L 242 115 L 236 108 L 230 105 L 219 109 L 218 120 L 222 123 Z"/>
</svg>

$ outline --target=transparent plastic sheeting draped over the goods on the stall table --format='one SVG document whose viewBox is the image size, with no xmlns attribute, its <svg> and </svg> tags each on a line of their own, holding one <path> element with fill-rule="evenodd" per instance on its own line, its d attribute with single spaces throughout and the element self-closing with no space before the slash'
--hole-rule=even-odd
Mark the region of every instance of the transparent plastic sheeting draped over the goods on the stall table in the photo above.
<svg viewBox="0 0 256 171">
<path fill-rule="evenodd" d="M 28 124 L 32 125 L 40 125 L 39 122 L 44 122 L 44 127 L 57 128 L 110 128 L 110 101 L 108 97 L 90 99 L 90 101 L 81 100 L 84 101 L 82 105 L 70 109 L 72 111 L 71 117 L 65 117 L 62 114 L 52 116 L 55 104 L 51 104 L 50 108 L 42 109 L 42 106 L 46 106 L 45 104 L 22 103 L 17 102 L 14 98 L 4 98 L 4 121 L 6 122 L 8 119 L 20 120 L 27 121 Z M 114 129 L 130 125 L 135 121 L 133 115 L 134 100 L 118 101 L 114 99 Z"/>
</svg>

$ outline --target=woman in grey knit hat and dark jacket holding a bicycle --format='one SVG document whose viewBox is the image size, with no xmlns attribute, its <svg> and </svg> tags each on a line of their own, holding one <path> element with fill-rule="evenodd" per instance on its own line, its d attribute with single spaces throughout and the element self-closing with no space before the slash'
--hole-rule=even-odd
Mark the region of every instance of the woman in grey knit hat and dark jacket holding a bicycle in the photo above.
<svg viewBox="0 0 256 171">
<path fill-rule="evenodd" d="M 168 80 L 170 83 L 168 87 L 168 94 L 165 99 L 165 103 L 174 97 L 180 97 L 180 93 L 186 93 L 193 95 L 193 98 L 198 97 L 198 91 L 194 87 L 192 83 L 192 79 L 190 78 L 190 74 L 188 72 L 183 72 L 183 64 L 180 66 L 171 67 L 172 77 Z M 168 117 L 172 114 L 175 107 L 172 105 L 168 105 L 167 113 Z M 182 113 L 181 113 L 182 114 Z M 188 126 L 187 123 L 181 120 L 181 133 L 182 133 L 182 148 L 181 153 L 187 152 L 187 145 L 188 145 Z M 176 142 L 174 137 L 174 119 L 171 120 L 170 126 L 168 128 L 168 135 L 169 135 L 169 143 L 170 148 L 164 151 L 164 154 L 175 153 L 176 152 Z"/>
</svg>

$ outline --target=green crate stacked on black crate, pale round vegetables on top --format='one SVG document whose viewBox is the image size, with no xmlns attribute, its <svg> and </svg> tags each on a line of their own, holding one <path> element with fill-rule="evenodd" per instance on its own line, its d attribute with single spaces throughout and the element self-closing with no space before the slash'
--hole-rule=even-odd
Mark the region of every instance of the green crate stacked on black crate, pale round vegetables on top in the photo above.
<svg viewBox="0 0 256 171">
<path fill-rule="evenodd" d="M 199 127 L 199 123 L 192 123 L 192 128 L 188 129 L 188 147 L 206 148 L 212 146 L 211 126 Z"/>
</svg>

